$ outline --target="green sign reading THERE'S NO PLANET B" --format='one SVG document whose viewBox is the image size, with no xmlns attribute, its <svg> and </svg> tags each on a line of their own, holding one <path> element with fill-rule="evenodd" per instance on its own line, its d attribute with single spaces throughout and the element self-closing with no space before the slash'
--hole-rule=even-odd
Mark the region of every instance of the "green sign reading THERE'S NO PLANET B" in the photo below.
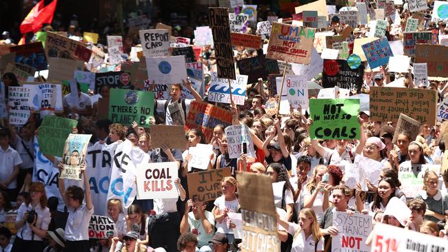
<svg viewBox="0 0 448 252">
<path fill-rule="evenodd" d="M 110 90 L 109 119 L 112 123 L 131 125 L 136 121 L 142 127 L 149 127 L 153 112 L 153 92 L 118 88 Z"/>
</svg>

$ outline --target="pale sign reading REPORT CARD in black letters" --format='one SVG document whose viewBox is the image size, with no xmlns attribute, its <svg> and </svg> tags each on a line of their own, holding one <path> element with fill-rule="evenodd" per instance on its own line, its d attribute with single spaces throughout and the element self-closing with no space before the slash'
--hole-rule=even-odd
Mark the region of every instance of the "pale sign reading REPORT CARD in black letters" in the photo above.
<svg viewBox="0 0 448 252">
<path fill-rule="evenodd" d="M 168 30 L 140 30 L 139 35 L 143 56 L 170 55 L 170 34 L 168 34 Z"/>
</svg>

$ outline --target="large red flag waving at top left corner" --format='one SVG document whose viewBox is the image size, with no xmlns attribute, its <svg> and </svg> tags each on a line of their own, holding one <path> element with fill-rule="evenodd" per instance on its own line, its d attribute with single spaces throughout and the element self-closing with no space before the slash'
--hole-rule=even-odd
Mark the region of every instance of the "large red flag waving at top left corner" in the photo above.
<svg viewBox="0 0 448 252">
<path fill-rule="evenodd" d="M 42 28 L 43 23 L 51 23 L 57 0 L 53 0 L 48 6 L 43 6 L 43 0 L 35 5 L 30 13 L 23 19 L 20 25 L 20 32 L 37 32 Z"/>
</svg>

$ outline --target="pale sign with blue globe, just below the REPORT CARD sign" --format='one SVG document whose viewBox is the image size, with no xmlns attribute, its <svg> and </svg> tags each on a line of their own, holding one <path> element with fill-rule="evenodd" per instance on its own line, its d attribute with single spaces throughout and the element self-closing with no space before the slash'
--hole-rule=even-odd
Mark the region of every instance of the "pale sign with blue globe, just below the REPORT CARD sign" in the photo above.
<svg viewBox="0 0 448 252">
<path fill-rule="evenodd" d="M 146 57 L 148 80 L 156 84 L 176 84 L 187 81 L 185 56 Z"/>
</svg>

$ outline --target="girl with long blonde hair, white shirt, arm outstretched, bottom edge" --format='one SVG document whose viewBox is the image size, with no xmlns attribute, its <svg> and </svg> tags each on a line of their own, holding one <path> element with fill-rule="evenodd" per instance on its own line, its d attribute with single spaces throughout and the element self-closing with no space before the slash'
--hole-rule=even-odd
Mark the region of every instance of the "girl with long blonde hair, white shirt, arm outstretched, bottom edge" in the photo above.
<svg viewBox="0 0 448 252">
<path fill-rule="evenodd" d="M 312 209 L 302 209 L 298 214 L 298 224 L 279 218 L 277 222 L 293 235 L 292 252 L 323 251 L 323 235 L 320 233 L 316 214 Z"/>
</svg>

